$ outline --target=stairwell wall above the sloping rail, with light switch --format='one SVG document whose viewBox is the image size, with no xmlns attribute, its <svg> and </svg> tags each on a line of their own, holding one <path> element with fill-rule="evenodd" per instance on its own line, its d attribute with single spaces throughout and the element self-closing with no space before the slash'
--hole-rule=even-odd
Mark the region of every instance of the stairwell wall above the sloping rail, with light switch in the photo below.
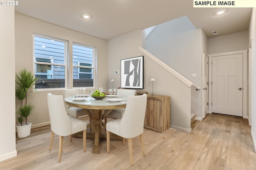
<svg viewBox="0 0 256 170">
<path fill-rule="evenodd" d="M 159 24 L 143 41 L 143 47 L 182 76 L 202 87 L 202 49 L 207 37 L 184 16 Z M 196 73 L 196 78 L 192 74 Z M 191 89 L 191 113 L 202 119 L 202 90 Z"/>
</svg>

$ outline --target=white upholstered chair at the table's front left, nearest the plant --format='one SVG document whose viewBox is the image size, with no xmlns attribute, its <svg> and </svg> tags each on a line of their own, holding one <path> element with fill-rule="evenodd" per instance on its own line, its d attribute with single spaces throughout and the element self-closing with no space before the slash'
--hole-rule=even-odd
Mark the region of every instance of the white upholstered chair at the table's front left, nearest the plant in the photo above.
<svg viewBox="0 0 256 170">
<path fill-rule="evenodd" d="M 54 134 L 59 135 L 59 154 L 58 162 L 60 162 L 63 147 L 63 137 L 70 136 L 72 141 L 72 134 L 83 131 L 83 150 L 86 151 L 86 129 L 87 124 L 85 121 L 78 119 L 72 115 L 68 115 L 64 106 L 63 96 L 47 94 L 48 109 L 50 115 L 50 125 L 52 137 L 50 141 L 49 150 L 52 149 Z"/>
</svg>

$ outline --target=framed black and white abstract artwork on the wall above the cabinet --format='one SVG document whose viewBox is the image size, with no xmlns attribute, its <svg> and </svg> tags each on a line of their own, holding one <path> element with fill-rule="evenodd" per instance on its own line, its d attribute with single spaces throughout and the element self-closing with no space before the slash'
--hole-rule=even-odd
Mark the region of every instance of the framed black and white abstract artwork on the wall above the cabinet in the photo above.
<svg viewBox="0 0 256 170">
<path fill-rule="evenodd" d="M 121 60 L 121 88 L 143 88 L 143 56 Z"/>
</svg>

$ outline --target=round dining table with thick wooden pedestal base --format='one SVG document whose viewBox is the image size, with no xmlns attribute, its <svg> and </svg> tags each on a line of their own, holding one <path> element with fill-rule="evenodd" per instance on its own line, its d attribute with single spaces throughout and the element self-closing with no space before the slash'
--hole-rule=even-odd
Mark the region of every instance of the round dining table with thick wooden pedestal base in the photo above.
<svg viewBox="0 0 256 170">
<path fill-rule="evenodd" d="M 119 99 L 119 101 L 118 101 Z M 94 139 L 92 147 L 93 153 L 100 153 L 100 140 L 106 139 L 106 134 L 102 134 L 102 127 L 106 129 L 106 124 L 103 119 L 112 111 L 112 109 L 120 109 L 126 107 L 125 97 L 106 97 L 101 100 L 96 100 L 90 97 L 70 96 L 64 99 L 68 106 L 79 107 L 84 109 L 85 113 L 92 119 L 92 122 L 87 124 L 87 128 L 92 127 L 92 131 L 87 133 L 88 138 Z M 122 140 L 121 137 L 111 134 L 110 139 Z M 73 135 L 74 137 L 82 137 L 82 133 Z"/>
</svg>

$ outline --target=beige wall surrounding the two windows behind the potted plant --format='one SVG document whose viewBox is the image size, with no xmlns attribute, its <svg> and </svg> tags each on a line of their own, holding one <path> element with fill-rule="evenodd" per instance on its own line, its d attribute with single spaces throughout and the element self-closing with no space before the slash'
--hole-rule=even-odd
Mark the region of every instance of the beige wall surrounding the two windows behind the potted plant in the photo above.
<svg viewBox="0 0 256 170">
<path fill-rule="evenodd" d="M 60 39 L 65 39 L 70 45 L 69 56 L 72 56 L 72 42 L 82 43 L 92 47 L 96 47 L 97 51 L 97 66 L 96 72 L 98 79 L 96 80 L 96 88 L 107 88 L 108 83 L 108 57 L 107 57 L 107 42 L 106 40 L 92 37 L 77 31 L 66 29 L 57 25 L 53 25 L 44 21 L 36 20 L 21 14 L 15 14 L 15 71 L 19 72 L 22 68 L 28 70 L 33 69 L 33 33 L 52 36 Z M 14 48 L 12 49 L 14 50 Z M 71 57 L 72 58 L 72 57 Z M 70 61 L 70 64 L 71 61 Z M 72 70 L 70 75 L 72 78 Z M 72 86 L 72 83 L 69 83 Z M 52 94 L 63 95 L 63 90 L 50 91 Z M 38 94 L 34 92 L 33 98 L 29 99 L 29 103 L 34 104 L 36 109 L 34 113 L 28 117 L 28 121 L 32 122 L 32 128 L 47 125 L 50 122 L 47 93 L 49 91 L 39 91 Z M 87 90 L 88 93 L 88 90 Z M 18 106 L 18 102 L 16 102 Z"/>
</svg>

